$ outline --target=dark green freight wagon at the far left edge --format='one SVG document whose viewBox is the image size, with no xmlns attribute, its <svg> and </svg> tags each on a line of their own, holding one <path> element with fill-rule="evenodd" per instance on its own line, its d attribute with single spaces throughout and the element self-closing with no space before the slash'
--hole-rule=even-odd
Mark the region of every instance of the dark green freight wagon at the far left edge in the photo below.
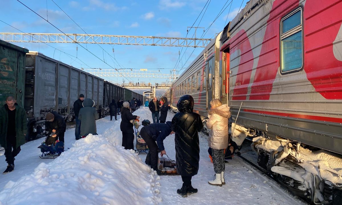
<svg viewBox="0 0 342 205">
<path fill-rule="evenodd" d="M 24 107 L 25 60 L 27 49 L 0 40 L 0 106 L 14 96 Z"/>
</svg>

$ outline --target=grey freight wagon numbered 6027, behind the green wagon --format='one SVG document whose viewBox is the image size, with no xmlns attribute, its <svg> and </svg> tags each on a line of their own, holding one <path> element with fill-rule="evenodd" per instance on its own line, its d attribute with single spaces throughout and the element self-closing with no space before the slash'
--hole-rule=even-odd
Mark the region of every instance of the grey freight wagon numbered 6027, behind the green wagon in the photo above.
<svg viewBox="0 0 342 205">
<path fill-rule="evenodd" d="M 44 131 L 45 115 L 56 111 L 73 120 L 73 105 L 80 94 L 95 101 L 99 115 L 103 109 L 103 79 L 49 58 L 38 52 L 26 54 L 25 103 L 28 140 Z"/>
</svg>

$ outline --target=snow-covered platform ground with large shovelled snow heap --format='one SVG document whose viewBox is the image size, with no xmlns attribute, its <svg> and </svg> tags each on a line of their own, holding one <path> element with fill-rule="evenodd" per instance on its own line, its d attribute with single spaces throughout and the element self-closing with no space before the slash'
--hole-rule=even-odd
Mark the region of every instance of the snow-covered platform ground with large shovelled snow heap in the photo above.
<svg viewBox="0 0 342 205">
<path fill-rule="evenodd" d="M 148 108 L 134 112 L 141 121 L 152 116 Z M 213 165 L 208 157 L 207 136 L 200 133 L 199 172 L 192 179 L 197 194 L 186 198 L 176 193 L 181 176 L 158 176 L 145 165 L 146 153 L 136 155 L 121 147 L 120 119 L 96 121 L 99 135 L 75 140 L 75 128 L 65 133 L 65 152 L 57 159 L 40 159 L 37 147 L 43 138 L 27 142 L 15 157 L 14 171 L 0 175 L 0 205 L 15 204 L 304 204 L 238 157 L 226 163 L 226 185 L 211 186 Z M 171 121 L 172 113 L 168 114 Z M 141 122 L 140 121 L 140 122 Z M 140 127 L 141 128 L 141 127 Z M 139 129 L 140 129 L 139 128 Z M 175 159 L 174 135 L 164 140 Z M 70 149 L 68 149 L 70 148 Z M 6 169 L 0 152 L 0 171 Z"/>
</svg>

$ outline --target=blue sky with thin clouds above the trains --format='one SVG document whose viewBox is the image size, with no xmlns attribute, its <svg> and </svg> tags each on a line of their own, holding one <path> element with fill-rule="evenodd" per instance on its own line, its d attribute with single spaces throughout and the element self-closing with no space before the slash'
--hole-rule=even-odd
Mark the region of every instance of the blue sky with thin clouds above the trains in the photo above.
<svg viewBox="0 0 342 205">
<path fill-rule="evenodd" d="M 205 27 L 205 32 L 201 28 L 197 30 L 197 38 L 213 38 L 215 33 L 221 32 L 229 20 L 232 20 L 236 16 L 242 3 L 242 0 L 20 1 L 43 18 L 48 19 L 50 23 L 64 33 L 84 33 L 86 31 L 88 34 L 101 35 L 183 38 L 193 37 L 194 29 L 190 29 L 187 34 L 187 27 L 193 25 Z M 229 4 L 231 1 L 232 3 Z M 244 0 L 241 9 L 244 8 L 246 2 L 247 0 Z M 206 5 L 206 3 L 209 3 L 209 5 Z M 61 33 L 16 0 L 3 1 L 1 4 L 0 20 L 12 26 L 0 22 L 1 32 Z M 58 8 L 56 4 L 84 31 Z M 227 5 L 228 7 L 226 8 Z M 201 13 L 203 8 L 204 10 Z M 226 8 L 224 12 L 215 20 L 216 16 L 221 13 L 221 9 L 224 8 Z M 203 35 L 204 33 L 205 35 Z M 133 70 L 143 68 L 151 71 L 160 70 L 160 72 L 168 74 L 174 68 L 180 70 L 181 68 L 187 67 L 203 50 L 203 48 L 194 49 L 193 47 L 183 47 L 182 49 L 182 47 L 170 46 L 100 44 L 101 48 L 97 44 L 81 44 L 98 58 L 104 60 L 104 63 L 80 45 L 74 43 L 49 43 L 53 47 L 44 43 L 14 44 L 26 47 L 30 51 L 39 51 L 46 56 L 60 60 L 76 68 L 112 69 L 111 67 L 113 67 L 118 69 L 132 68 Z M 78 46 L 78 51 L 76 51 L 76 46 Z M 181 52 L 180 56 L 179 52 Z M 180 60 L 178 60 L 179 57 L 181 57 Z M 125 80 L 125 83 L 128 81 L 144 81 L 146 83 L 161 83 L 166 81 L 166 79 L 158 78 L 102 78 L 118 83 L 122 83 L 122 80 Z"/>
</svg>

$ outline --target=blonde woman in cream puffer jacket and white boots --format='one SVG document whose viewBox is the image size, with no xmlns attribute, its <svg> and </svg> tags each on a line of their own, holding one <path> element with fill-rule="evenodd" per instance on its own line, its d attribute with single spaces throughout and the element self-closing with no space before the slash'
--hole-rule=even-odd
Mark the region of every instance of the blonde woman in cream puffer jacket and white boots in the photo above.
<svg viewBox="0 0 342 205">
<path fill-rule="evenodd" d="M 208 145 L 212 149 L 212 160 L 214 164 L 214 171 L 216 179 L 208 181 L 209 184 L 220 186 L 226 184 L 224 181 L 224 149 L 228 146 L 228 125 L 231 112 L 228 105 L 222 105 L 219 99 L 210 101 L 211 110 L 209 111 L 209 119 L 207 121 L 207 128 L 210 129 Z"/>
</svg>

